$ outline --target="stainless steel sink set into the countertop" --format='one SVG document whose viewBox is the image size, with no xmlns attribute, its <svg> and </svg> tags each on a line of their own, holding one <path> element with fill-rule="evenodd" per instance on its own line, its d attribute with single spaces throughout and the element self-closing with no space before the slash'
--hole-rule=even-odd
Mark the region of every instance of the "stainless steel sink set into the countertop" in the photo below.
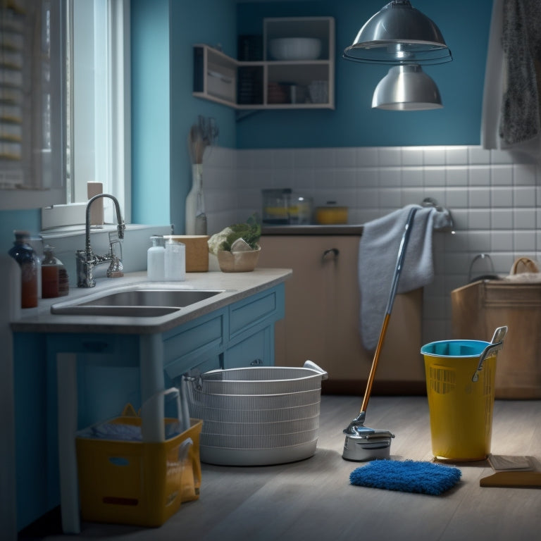
<svg viewBox="0 0 541 541">
<path fill-rule="evenodd" d="M 166 316 L 200 301 L 223 293 L 223 290 L 151 290 L 132 289 L 87 296 L 70 303 L 51 306 L 51 313 L 80 316 Z M 92 298 L 89 298 L 92 297 Z"/>
</svg>

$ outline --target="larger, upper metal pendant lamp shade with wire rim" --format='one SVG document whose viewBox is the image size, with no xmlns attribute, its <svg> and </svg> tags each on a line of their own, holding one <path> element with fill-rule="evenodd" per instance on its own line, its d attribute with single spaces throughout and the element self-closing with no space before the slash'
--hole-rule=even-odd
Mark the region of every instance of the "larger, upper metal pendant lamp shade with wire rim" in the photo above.
<svg viewBox="0 0 541 541">
<path fill-rule="evenodd" d="M 441 64 L 452 61 L 442 32 L 408 0 L 393 0 L 363 25 L 347 60 L 383 64 Z"/>
</svg>

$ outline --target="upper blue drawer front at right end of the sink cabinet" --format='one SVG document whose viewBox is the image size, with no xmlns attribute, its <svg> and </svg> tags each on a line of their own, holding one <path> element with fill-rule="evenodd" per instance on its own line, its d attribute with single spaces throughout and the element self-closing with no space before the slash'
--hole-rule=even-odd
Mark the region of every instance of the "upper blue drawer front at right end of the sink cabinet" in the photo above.
<svg viewBox="0 0 541 541">
<path fill-rule="evenodd" d="M 283 317 L 283 304 L 280 300 L 283 298 L 283 294 L 280 297 L 280 287 L 283 285 L 230 306 L 230 340 L 246 330 L 265 323 L 267 318 Z"/>
</svg>

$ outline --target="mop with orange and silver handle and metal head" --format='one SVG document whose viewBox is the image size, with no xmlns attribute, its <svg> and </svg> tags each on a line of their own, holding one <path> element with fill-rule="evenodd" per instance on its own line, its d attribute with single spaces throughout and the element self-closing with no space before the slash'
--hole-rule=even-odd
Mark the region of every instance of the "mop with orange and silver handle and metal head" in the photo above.
<svg viewBox="0 0 541 541">
<path fill-rule="evenodd" d="M 356 416 L 351 423 L 349 423 L 348 427 L 344 429 L 346 440 L 344 442 L 344 452 L 342 454 L 342 458 L 345 460 L 367 461 L 372 459 L 386 459 L 390 456 L 391 440 L 394 437 L 394 434 L 390 433 L 389 430 L 376 430 L 374 428 L 368 428 L 364 425 L 364 421 L 366 417 L 368 400 L 370 399 L 370 394 L 372 391 L 375 370 L 378 368 L 380 352 L 381 348 L 383 347 L 385 334 L 387 332 L 387 325 L 389 324 L 392 305 L 394 304 L 394 297 L 396 297 L 397 294 L 400 272 L 402 270 L 402 266 L 404 265 L 404 257 L 406 256 L 406 248 L 411 235 L 413 218 L 415 218 L 416 211 L 416 208 L 409 211 L 406 226 L 404 228 L 404 234 L 402 235 L 402 241 L 400 242 L 398 249 L 397 264 L 394 268 L 391 291 L 389 300 L 387 301 L 387 309 L 385 310 L 385 318 L 383 319 L 378 346 L 375 348 L 372 367 L 368 375 L 361 411 L 359 415 Z"/>
</svg>

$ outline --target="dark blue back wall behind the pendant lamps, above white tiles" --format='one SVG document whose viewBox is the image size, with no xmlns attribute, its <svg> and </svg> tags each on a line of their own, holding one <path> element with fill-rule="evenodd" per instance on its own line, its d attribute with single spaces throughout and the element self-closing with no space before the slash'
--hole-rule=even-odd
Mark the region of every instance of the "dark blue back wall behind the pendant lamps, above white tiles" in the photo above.
<svg viewBox="0 0 541 541">
<path fill-rule="evenodd" d="M 387 67 L 346 61 L 342 51 L 384 0 L 256 2 L 237 5 L 239 34 L 262 32 L 263 17 L 335 18 L 335 110 L 261 111 L 238 123 L 237 147 L 363 147 L 479 144 L 492 0 L 414 0 L 440 27 L 454 60 L 428 66 L 442 94 L 435 111 L 380 111 L 372 94 Z"/>
</svg>

